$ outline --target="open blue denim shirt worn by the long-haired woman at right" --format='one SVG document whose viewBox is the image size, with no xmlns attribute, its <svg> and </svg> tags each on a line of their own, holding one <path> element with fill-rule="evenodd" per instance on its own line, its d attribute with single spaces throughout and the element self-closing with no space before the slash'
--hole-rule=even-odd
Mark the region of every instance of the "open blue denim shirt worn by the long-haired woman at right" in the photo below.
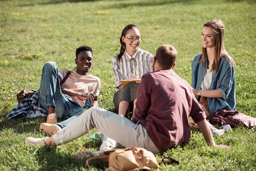
<svg viewBox="0 0 256 171">
<path fill-rule="evenodd" d="M 205 58 L 206 65 L 197 63 L 202 58 L 202 54 L 197 55 L 192 62 L 192 87 L 201 89 L 202 80 L 204 79 L 207 56 Z M 218 89 L 222 93 L 222 98 L 208 98 L 210 116 L 213 116 L 220 109 L 229 111 L 235 110 L 235 72 L 234 67 L 227 62 L 226 57 L 221 58 L 220 67 L 216 74 L 212 76 L 210 89 Z M 196 96 L 199 100 L 199 96 Z"/>
</svg>

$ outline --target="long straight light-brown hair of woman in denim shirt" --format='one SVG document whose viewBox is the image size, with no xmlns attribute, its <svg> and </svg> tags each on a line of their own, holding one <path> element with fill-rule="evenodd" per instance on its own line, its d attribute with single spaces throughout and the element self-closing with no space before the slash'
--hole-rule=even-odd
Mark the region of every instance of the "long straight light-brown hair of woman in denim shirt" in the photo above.
<svg viewBox="0 0 256 171">
<path fill-rule="evenodd" d="M 214 35 L 216 36 L 216 45 L 215 45 L 215 55 L 214 61 L 212 65 L 212 72 L 215 74 L 220 67 L 221 57 L 226 56 L 229 62 L 233 67 L 235 67 L 234 60 L 227 54 L 224 48 L 224 23 L 220 19 L 212 19 L 206 23 L 204 23 L 204 27 L 210 27 L 214 31 Z M 202 62 L 202 66 L 205 66 L 205 57 L 207 55 L 206 48 L 202 47 L 202 58 L 198 63 Z"/>
</svg>

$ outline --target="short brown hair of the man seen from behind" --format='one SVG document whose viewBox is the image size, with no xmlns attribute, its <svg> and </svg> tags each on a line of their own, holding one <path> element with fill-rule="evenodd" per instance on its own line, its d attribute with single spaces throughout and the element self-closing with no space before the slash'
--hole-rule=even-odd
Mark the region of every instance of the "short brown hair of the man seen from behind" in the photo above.
<svg viewBox="0 0 256 171">
<path fill-rule="evenodd" d="M 178 52 L 175 47 L 163 44 L 156 51 L 156 59 L 161 68 L 172 68 L 177 58 Z"/>
</svg>

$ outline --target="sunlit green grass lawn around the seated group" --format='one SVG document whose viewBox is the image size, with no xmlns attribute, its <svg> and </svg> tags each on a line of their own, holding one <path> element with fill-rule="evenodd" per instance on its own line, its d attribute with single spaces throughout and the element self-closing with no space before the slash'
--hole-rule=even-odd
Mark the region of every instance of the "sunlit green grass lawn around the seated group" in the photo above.
<svg viewBox="0 0 256 171">
<path fill-rule="evenodd" d="M 82 45 L 94 50 L 90 74 L 101 80 L 99 105 L 115 111 L 112 103 L 115 79 L 112 57 L 119 52 L 119 36 L 124 26 L 140 28 L 140 48 L 155 54 L 161 44 L 178 50 L 174 70 L 191 83 L 191 62 L 201 52 L 204 22 L 217 18 L 226 26 L 225 47 L 237 64 L 237 110 L 256 117 L 256 5 L 255 1 L 82 1 L 35 0 L 0 1 L 0 169 L 1 170 L 101 170 L 107 164 L 84 166 L 74 154 L 86 145 L 98 150 L 95 132 L 58 149 L 29 147 L 28 136 L 44 137 L 39 124 L 46 118 L 6 120 L 17 105 L 16 94 L 26 87 L 38 89 L 43 64 L 55 61 L 59 68 L 75 70 L 75 49 Z M 256 131 L 242 127 L 206 145 L 202 134 L 192 130 L 192 143 L 157 155 L 161 170 L 256 170 Z M 161 158 L 172 157 L 179 165 L 164 165 Z"/>
</svg>

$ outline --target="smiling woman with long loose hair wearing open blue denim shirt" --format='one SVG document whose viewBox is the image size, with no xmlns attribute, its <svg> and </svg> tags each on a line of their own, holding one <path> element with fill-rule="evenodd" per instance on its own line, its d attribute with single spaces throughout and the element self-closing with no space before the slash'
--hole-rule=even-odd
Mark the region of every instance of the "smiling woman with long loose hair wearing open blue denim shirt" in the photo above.
<svg viewBox="0 0 256 171">
<path fill-rule="evenodd" d="M 234 111 L 235 62 L 224 48 L 224 23 L 217 19 L 206 22 L 201 40 L 202 54 L 192 62 L 194 95 L 206 116 L 213 116 L 220 109 Z M 224 133 L 224 130 L 217 130 L 212 125 L 210 128 L 217 135 Z"/>
</svg>

